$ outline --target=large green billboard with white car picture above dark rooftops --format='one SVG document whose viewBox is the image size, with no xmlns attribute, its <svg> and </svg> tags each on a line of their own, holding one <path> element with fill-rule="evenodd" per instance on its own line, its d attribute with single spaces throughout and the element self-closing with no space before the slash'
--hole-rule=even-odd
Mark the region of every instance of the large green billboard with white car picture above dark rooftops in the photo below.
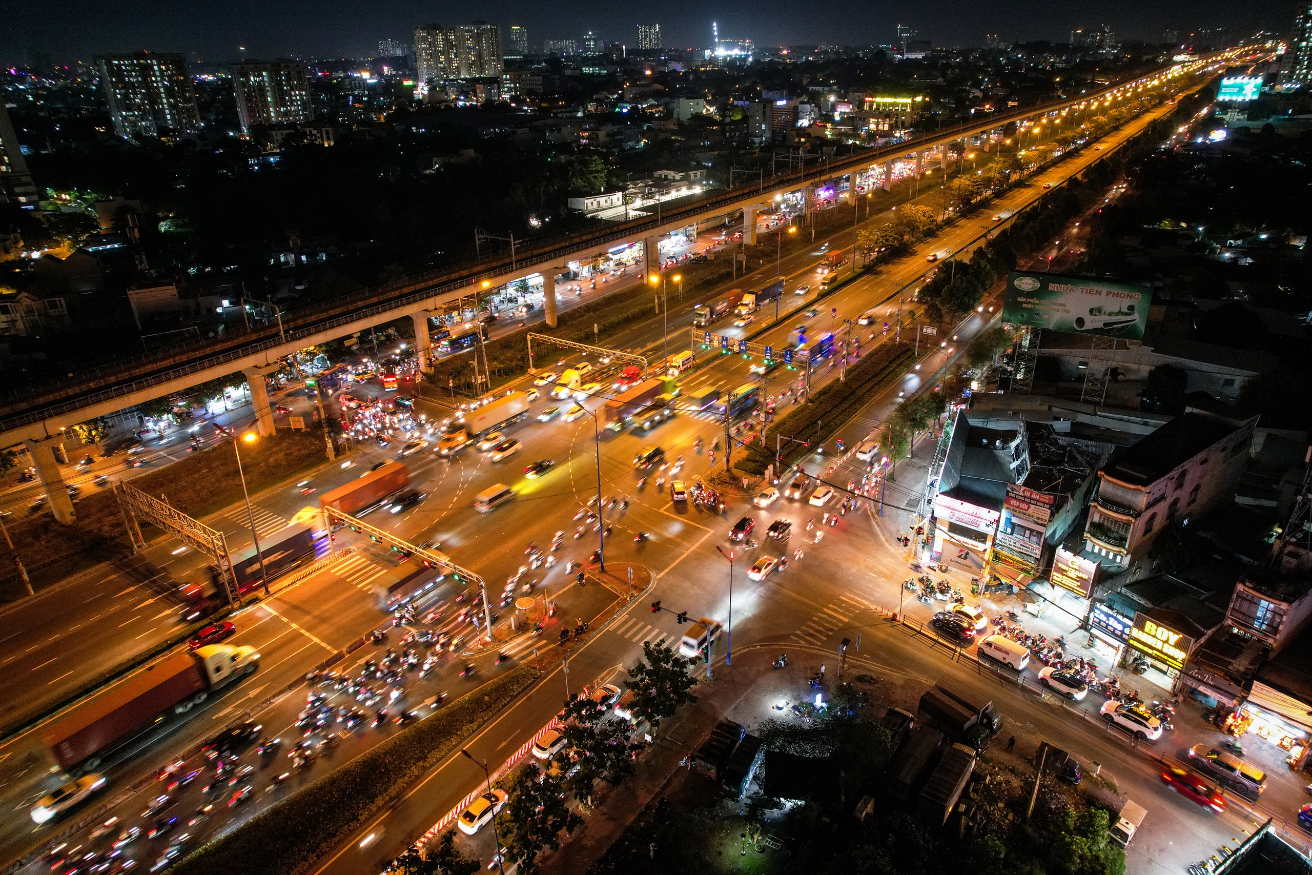
<svg viewBox="0 0 1312 875">
<path fill-rule="evenodd" d="M 1071 335 L 1143 340 L 1152 290 L 1094 277 L 1013 270 L 1002 321 Z"/>
</svg>

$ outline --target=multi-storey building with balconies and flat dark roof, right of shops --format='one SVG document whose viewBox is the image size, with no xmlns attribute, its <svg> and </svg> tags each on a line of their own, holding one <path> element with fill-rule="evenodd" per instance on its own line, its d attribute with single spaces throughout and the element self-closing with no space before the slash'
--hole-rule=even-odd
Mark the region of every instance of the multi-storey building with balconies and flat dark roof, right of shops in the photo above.
<svg viewBox="0 0 1312 875">
<path fill-rule="evenodd" d="M 1235 497 L 1257 417 L 1186 412 L 1098 471 L 1085 550 L 1113 565 L 1143 556 L 1162 529 Z"/>
</svg>

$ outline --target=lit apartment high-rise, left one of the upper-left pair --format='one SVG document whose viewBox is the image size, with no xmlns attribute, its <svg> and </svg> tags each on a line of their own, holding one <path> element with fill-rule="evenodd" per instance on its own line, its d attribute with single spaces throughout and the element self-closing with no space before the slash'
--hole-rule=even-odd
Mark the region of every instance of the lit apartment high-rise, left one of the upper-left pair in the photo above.
<svg viewBox="0 0 1312 875">
<path fill-rule="evenodd" d="M 96 59 L 119 136 L 164 136 L 201 129 L 186 58 L 138 51 Z"/>
</svg>

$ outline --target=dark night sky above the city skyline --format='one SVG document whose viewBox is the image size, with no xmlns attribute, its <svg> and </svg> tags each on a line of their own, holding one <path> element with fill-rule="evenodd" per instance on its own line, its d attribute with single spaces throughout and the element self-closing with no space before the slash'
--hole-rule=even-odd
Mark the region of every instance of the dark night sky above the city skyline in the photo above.
<svg viewBox="0 0 1312 875">
<path fill-rule="evenodd" d="M 22 63 L 33 52 L 52 60 L 88 60 L 100 51 L 185 51 L 207 62 L 248 56 L 367 56 L 383 38 L 409 42 L 420 21 L 445 25 L 475 18 L 529 28 L 534 43 L 577 38 L 593 30 L 609 41 L 635 42 L 634 9 L 657 21 L 666 46 L 706 47 L 711 20 L 724 38 L 758 45 L 812 42 L 892 42 L 897 24 L 918 29 L 935 45 L 981 45 L 985 33 L 1006 41 L 1064 42 L 1073 28 L 1107 24 L 1124 38 L 1157 41 L 1166 28 L 1182 34 L 1223 26 L 1235 35 L 1258 29 L 1284 33 L 1294 20 L 1288 0 L 1254 4 L 1237 0 L 939 0 L 939 3 L 862 3 L 857 0 L 731 0 L 718 3 L 621 4 L 584 0 L 542 4 L 531 0 L 445 4 L 367 4 L 344 0 L 231 0 L 177 3 L 88 3 L 50 7 L 17 0 L 0 26 L 0 60 Z"/>
</svg>

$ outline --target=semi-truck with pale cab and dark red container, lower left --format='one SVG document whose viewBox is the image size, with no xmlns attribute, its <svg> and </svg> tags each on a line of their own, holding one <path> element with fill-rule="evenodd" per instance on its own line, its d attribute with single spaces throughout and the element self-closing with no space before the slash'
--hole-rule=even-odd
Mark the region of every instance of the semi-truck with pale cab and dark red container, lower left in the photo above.
<svg viewBox="0 0 1312 875">
<path fill-rule="evenodd" d="M 253 647 L 210 644 L 176 653 L 73 706 L 46 725 L 41 739 L 64 771 L 93 771 L 118 748 L 258 665 Z"/>
</svg>

